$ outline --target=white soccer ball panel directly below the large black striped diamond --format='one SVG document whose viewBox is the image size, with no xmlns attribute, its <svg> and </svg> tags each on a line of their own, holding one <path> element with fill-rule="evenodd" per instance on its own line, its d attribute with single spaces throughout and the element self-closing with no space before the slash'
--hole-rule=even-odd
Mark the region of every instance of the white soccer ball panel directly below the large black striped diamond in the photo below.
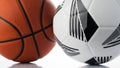
<svg viewBox="0 0 120 68">
<path fill-rule="evenodd" d="M 66 40 L 64 40 L 63 44 L 65 44 L 66 46 L 69 46 L 71 48 L 79 50 L 78 52 L 80 54 L 71 56 L 78 61 L 86 62 L 87 60 L 89 60 L 93 57 L 92 52 L 87 45 L 87 42 L 83 42 L 79 39 L 69 36 L 66 38 Z"/>
</svg>

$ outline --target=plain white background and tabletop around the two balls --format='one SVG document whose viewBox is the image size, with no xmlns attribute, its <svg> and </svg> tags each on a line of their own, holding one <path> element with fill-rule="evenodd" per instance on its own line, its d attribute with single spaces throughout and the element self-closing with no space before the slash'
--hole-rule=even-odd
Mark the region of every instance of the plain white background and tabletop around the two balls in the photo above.
<svg viewBox="0 0 120 68">
<path fill-rule="evenodd" d="M 63 0 L 52 0 L 57 7 Z M 0 56 L 0 68 L 119 68 L 120 57 L 101 66 L 88 66 L 68 57 L 58 44 L 44 58 L 32 62 L 32 64 L 19 64 Z"/>
</svg>

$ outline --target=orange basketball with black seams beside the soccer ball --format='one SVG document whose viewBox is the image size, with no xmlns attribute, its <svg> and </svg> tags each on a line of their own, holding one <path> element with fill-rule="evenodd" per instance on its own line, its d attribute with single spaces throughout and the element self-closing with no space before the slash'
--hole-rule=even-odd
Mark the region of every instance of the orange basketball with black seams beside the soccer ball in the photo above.
<svg viewBox="0 0 120 68">
<path fill-rule="evenodd" d="M 0 0 L 0 53 L 16 62 L 44 57 L 54 47 L 50 0 Z"/>
</svg>

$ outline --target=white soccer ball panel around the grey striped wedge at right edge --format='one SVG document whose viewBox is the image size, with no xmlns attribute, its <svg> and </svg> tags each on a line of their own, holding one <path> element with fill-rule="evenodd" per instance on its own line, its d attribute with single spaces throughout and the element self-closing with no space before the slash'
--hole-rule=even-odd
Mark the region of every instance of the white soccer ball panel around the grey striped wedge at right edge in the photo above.
<svg viewBox="0 0 120 68">
<path fill-rule="evenodd" d="M 114 44 L 108 45 L 107 43 L 115 41 L 114 39 L 109 40 L 106 44 L 103 43 L 114 33 L 116 27 L 100 27 L 95 32 L 93 37 L 88 42 L 89 47 L 94 53 L 94 56 L 112 56 L 112 58 L 116 57 L 120 53 L 120 44 L 113 46 Z M 119 34 L 119 33 L 118 33 Z M 116 36 L 118 37 L 118 36 Z M 117 43 L 117 42 L 116 42 Z"/>
</svg>

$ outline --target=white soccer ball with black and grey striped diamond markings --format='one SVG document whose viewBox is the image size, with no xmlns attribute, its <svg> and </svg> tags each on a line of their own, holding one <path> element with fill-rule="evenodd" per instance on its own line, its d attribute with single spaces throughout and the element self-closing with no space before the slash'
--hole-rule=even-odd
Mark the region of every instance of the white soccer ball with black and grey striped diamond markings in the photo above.
<svg viewBox="0 0 120 68">
<path fill-rule="evenodd" d="M 99 65 L 120 53 L 120 0 L 65 0 L 54 17 L 54 34 L 64 52 Z"/>
</svg>

